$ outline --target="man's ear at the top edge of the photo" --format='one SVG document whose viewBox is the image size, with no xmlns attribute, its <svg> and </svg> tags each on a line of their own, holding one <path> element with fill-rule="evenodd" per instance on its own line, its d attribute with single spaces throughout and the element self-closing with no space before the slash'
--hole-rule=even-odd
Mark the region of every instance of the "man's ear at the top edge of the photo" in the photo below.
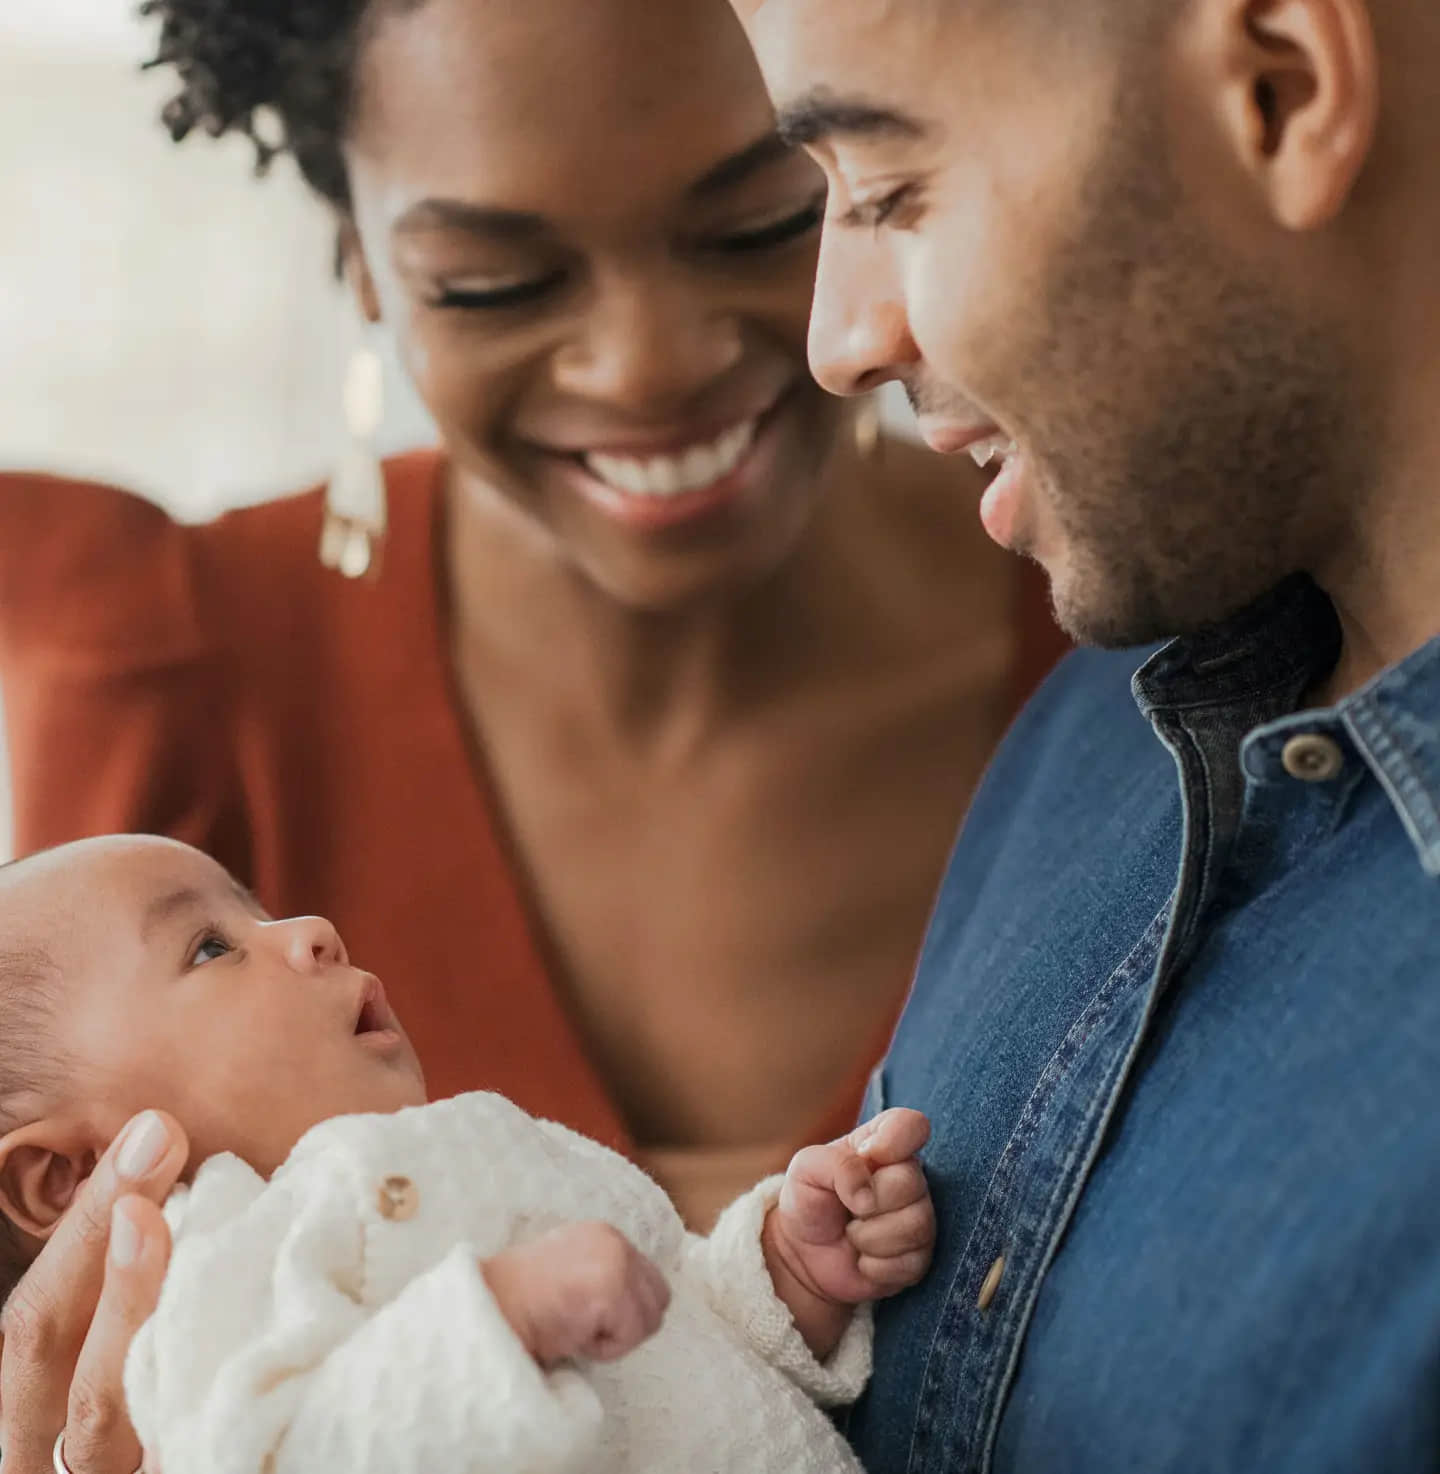
<svg viewBox="0 0 1440 1474">
<path fill-rule="evenodd" d="M 1344 208 L 1380 118 L 1371 0 L 1213 0 L 1201 44 L 1220 63 L 1222 122 L 1287 230 Z"/>
</svg>

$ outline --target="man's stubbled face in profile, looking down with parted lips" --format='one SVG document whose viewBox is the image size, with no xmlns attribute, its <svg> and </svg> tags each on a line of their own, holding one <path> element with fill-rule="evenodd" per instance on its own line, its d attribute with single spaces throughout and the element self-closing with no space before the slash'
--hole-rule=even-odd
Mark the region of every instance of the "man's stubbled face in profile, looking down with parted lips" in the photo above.
<svg viewBox="0 0 1440 1474">
<path fill-rule="evenodd" d="M 1182 632 L 1315 567 L 1363 416 L 1179 16 L 1142 38 L 992 0 L 735 3 L 830 181 L 817 376 L 898 379 L 934 450 L 992 457 L 985 525 L 1072 632 Z"/>
</svg>

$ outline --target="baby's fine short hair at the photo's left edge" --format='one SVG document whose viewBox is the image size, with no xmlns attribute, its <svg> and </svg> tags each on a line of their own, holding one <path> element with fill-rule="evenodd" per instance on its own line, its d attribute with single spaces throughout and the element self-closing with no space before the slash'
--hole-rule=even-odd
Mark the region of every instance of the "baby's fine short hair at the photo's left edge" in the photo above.
<svg viewBox="0 0 1440 1474">
<path fill-rule="evenodd" d="M 0 873 L 13 864 L 0 865 Z M 55 1091 L 63 1070 L 52 1048 L 55 963 L 6 930 L 0 915 L 0 1136 L 27 1123 L 25 1107 Z M 24 1241 L 0 1213 L 0 1306 L 28 1268 Z"/>
</svg>

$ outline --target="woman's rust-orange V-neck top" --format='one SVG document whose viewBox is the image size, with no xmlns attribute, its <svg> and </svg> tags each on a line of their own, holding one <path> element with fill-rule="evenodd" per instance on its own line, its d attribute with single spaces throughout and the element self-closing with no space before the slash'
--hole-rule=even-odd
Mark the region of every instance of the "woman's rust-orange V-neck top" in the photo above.
<svg viewBox="0 0 1440 1474">
<path fill-rule="evenodd" d="M 318 492 L 181 526 L 112 488 L 0 476 L 16 852 L 184 839 L 274 912 L 336 923 L 385 979 L 432 1095 L 501 1091 L 632 1151 L 547 976 L 458 712 L 442 469 L 433 451 L 389 463 L 385 565 L 361 582 L 317 560 Z M 1063 644 L 1030 570 L 1017 618 L 1018 697 Z M 819 1103 L 827 1134 L 853 1122 L 871 1063 Z"/>
</svg>

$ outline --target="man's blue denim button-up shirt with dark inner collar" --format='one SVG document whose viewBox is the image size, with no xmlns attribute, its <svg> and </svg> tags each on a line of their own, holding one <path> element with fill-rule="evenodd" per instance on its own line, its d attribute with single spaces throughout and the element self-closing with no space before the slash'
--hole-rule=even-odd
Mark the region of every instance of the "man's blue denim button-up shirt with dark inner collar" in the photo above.
<svg viewBox="0 0 1440 1474">
<path fill-rule="evenodd" d="M 1297 713 L 1338 649 L 1293 579 L 1001 749 L 867 1103 L 940 1225 L 873 1474 L 1440 1467 L 1440 640 Z"/>
</svg>

